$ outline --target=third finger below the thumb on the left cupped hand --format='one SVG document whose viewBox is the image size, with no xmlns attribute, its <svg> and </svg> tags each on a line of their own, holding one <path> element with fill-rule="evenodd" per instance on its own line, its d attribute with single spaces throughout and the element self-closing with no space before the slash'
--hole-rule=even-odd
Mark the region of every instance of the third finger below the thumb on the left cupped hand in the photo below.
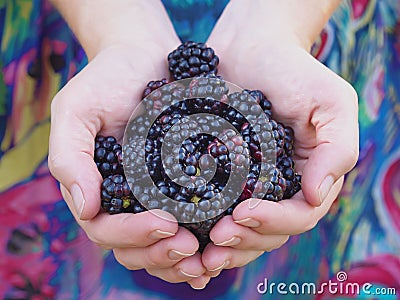
<svg viewBox="0 0 400 300">
<path fill-rule="evenodd" d="M 198 278 L 204 274 L 205 268 L 201 262 L 200 253 L 196 253 L 193 256 L 182 259 L 172 268 L 167 269 L 146 269 L 146 271 L 153 276 L 161 278 L 165 281 L 178 283 L 187 282 Z"/>
</svg>

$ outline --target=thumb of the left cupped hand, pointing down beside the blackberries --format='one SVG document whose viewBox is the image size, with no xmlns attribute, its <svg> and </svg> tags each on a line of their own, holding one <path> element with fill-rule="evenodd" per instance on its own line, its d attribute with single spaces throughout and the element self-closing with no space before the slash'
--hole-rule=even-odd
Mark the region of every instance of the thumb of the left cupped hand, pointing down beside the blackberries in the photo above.
<svg viewBox="0 0 400 300">
<path fill-rule="evenodd" d="M 51 105 L 49 169 L 69 193 L 70 208 L 82 220 L 95 217 L 100 209 L 102 178 L 93 160 L 97 132 L 85 105 L 61 91 Z M 84 116 L 84 117 L 83 117 Z M 98 123 L 98 122 L 97 122 Z"/>
</svg>

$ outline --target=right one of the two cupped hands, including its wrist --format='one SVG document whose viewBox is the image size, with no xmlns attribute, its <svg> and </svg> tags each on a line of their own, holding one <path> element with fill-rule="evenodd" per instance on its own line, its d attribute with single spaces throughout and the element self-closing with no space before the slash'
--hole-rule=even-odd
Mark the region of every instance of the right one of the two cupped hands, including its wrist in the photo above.
<svg viewBox="0 0 400 300">
<path fill-rule="evenodd" d="M 274 118 L 294 129 L 294 160 L 302 174 L 302 190 L 292 199 L 248 199 L 215 225 L 210 233 L 214 244 L 202 256 L 208 270 L 243 266 L 312 229 L 357 161 L 356 92 L 308 52 L 313 38 L 304 34 L 307 24 L 279 27 L 271 21 L 290 20 L 297 13 L 292 7 L 301 10 L 307 3 L 231 1 L 207 42 L 223 57 L 219 74 L 241 87 L 262 90 L 273 104 Z M 300 23 L 308 23 L 315 15 L 299 16 Z M 309 32 L 318 32 L 312 27 Z"/>
</svg>

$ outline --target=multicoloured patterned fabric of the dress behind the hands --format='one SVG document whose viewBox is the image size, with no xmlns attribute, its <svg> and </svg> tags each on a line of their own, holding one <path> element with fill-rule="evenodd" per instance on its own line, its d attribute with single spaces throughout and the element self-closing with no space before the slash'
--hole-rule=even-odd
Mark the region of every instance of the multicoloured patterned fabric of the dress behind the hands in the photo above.
<svg viewBox="0 0 400 300">
<path fill-rule="evenodd" d="M 163 2 L 182 40 L 196 41 L 207 39 L 227 3 Z M 260 284 L 344 282 L 339 271 L 372 290 L 397 289 L 385 299 L 400 297 L 399 16 L 397 0 L 344 1 L 313 47 L 359 95 L 360 159 L 329 214 L 194 291 L 126 270 L 78 227 L 49 173 L 46 145 L 51 99 L 87 59 L 47 1 L 0 1 L 0 298 L 282 299 Z"/>
</svg>

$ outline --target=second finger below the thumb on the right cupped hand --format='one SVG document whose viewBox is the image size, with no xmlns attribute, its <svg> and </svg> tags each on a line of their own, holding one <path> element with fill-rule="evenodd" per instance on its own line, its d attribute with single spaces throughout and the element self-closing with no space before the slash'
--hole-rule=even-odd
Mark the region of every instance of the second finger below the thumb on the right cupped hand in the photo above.
<svg viewBox="0 0 400 300">
<path fill-rule="evenodd" d="M 269 252 L 281 247 L 289 236 L 262 235 L 249 227 L 236 224 L 232 216 L 225 216 L 215 224 L 210 238 L 216 246 Z"/>
</svg>

